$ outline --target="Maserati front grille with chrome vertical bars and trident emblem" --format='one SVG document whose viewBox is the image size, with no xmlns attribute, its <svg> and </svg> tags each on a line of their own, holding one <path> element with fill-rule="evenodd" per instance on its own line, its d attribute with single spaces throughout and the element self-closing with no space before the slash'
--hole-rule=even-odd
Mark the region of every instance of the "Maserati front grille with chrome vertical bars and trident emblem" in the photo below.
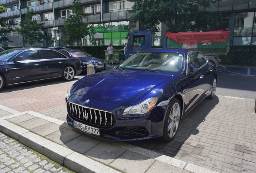
<svg viewBox="0 0 256 173">
<path fill-rule="evenodd" d="M 116 124 L 116 119 L 111 112 L 91 109 L 71 102 L 68 102 L 68 113 L 76 119 L 93 125 L 111 127 Z"/>
</svg>

